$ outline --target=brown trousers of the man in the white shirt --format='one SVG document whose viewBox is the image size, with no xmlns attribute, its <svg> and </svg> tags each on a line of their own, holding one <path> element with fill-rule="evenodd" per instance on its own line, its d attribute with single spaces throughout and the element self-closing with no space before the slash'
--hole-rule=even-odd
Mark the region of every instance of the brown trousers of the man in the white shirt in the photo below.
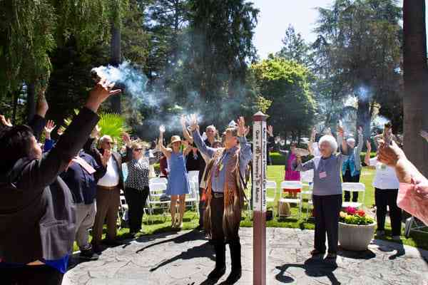
<svg viewBox="0 0 428 285">
<path fill-rule="evenodd" d="M 99 245 L 103 235 L 104 220 L 107 219 L 107 239 L 116 238 L 116 221 L 121 204 L 121 190 L 118 187 L 101 187 L 96 190 L 96 216 L 93 224 L 92 244 Z"/>
</svg>

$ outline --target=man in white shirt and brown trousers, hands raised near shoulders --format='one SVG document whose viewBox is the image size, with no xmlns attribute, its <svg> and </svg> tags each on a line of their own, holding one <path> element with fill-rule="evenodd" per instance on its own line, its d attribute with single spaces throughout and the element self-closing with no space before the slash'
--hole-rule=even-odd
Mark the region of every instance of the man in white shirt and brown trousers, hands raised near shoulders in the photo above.
<svg viewBox="0 0 428 285">
<path fill-rule="evenodd" d="M 121 189 L 123 189 L 123 172 L 122 172 L 122 162 L 126 162 L 126 158 L 122 160 L 121 155 L 118 152 L 114 152 L 113 140 L 109 135 L 103 135 L 100 138 L 101 145 L 101 155 L 104 152 L 108 152 L 108 162 L 106 175 L 101 177 L 97 183 L 97 192 L 96 192 L 96 217 L 95 223 L 93 224 L 93 251 L 101 252 L 101 236 L 103 234 L 103 224 L 104 220 L 107 221 L 107 245 L 118 245 L 119 243 L 116 239 L 116 221 L 118 218 L 118 207 L 121 203 Z M 94 150 L 98 151 L 98 150 Z M 93 157 L 99 157 L 99 155 L 94 155 Z"/>
</svg>

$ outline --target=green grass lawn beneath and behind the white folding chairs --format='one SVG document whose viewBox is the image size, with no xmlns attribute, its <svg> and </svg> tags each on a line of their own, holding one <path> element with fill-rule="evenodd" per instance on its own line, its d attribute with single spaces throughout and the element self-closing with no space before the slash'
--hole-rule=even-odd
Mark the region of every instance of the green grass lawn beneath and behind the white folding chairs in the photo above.
<svg viewBox="0 0 428 285">
<path fill-rule="evenodd" d="M 366 185 L 366 192 L 365 192 L 365 207 L 367 209 L 372 208 L 372 205 L 374 204 L 374 189 L 372 187 L 372 180 L 374 176 L 374 170 L 370 170 L 367 167 L 363 167 L 362 169 L 362 175 L 361 175 L 361 182 Z M 280 183 L 282 182 L 284 178 L 284 166 L 283 165 L 269 165 L 267 166 L 267 180 L 274 180 L 277 182 L 277 185 L 279 187 Z M 269 197 L 273 197 L 274 192 L 273 190 L 268 190 L 267 195 Z M 277 216 L 277 207 L 274 205 L 277 204 L 277 199 L 280 197 L 280 190 L 277 190 L 277 195 L 275 198 L 275 202 L 273 204 L 268 204 L 267 209 L 272 209 L 274 211 L 275 217 L 267 221 L 267 227 L 288 227 L 288 228 L 300 228 L 300 229 L 314 229 L 315 225 L 312 219 L 307 219 L 307 203 L 303 203 L 302 207 L 302 217 L 300 219 L 297 218 L 282 218 L 278 219 Z M 292 215 L 297 216 L 298 209 L 297 207 L 292 207 Z M 156 214 L 153 216 L 153 221 L 148 221 L 147 217 L 145 216 L 143 219 L 143 234 L 155 234 L 159 232 L 170 232 L 172 229 L 170 228 L 170 216 L 167 215 L 166 217 L 163 216 L 163 214 Z M 248 214 L 248 211 L 243 212 L 243 220 L 241 221 L 241 227 L 252 227 L 253 222 L 250 219 L 250 215 Z M 188 210 L 185 213 L 184 219 L 183 219 L 183 229 L 194 229 L 198 226 L 198 214 L 194 210 Z M 121 229 L 118 232 L 118 236 L 120 238 L 126 239 L 129 237 L 128 229 Z M 386 226 L 386 232 L 387 235 L 390 234 L 391 228 L 390 225 L 387 224 Z M 403 227 L 404 232 L 404 227 Z M 391 242 L 392 239 L 390 237 L 385 237 L 385 240 L 389 240 Z M 428 238 L 427 234 L 418 234 L 418 233 L 412 233 L 412 236 L 408 239 L 402 235 L 402 243 L 407 244 L 412 247 L 419 247 L 422 249 L 428 249 Z M 76 244 L 74 246 L 75 250 L 78 250 L 76 247 Z"/>
</svg>

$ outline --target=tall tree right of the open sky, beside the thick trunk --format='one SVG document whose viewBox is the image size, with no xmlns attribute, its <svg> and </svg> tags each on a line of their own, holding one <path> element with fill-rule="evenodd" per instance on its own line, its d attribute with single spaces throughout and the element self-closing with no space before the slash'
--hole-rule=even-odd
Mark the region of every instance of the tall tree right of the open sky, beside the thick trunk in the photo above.
<svg viewBox="0 0 428 285">
<path fill-rule="evenodd" d="M 318 11 L 320 62 L 339 79 L 342 95 L 357 98 L 357 125 L 370 135 L 373 103 L 397 86 L 401 11 L 394 0 L 336 0 Z"/>
</svg>

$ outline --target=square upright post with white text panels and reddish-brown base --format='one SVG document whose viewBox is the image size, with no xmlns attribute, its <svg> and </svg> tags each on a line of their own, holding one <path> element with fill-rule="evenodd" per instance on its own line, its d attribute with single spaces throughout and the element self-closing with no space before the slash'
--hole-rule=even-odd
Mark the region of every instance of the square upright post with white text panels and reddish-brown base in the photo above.
<svg viewBox="0 0 428 285">
<path fill-rule="evenodd" d="M 253 284 L 266 284 L 266 118 L 253 116 Z"/>
</svg>

